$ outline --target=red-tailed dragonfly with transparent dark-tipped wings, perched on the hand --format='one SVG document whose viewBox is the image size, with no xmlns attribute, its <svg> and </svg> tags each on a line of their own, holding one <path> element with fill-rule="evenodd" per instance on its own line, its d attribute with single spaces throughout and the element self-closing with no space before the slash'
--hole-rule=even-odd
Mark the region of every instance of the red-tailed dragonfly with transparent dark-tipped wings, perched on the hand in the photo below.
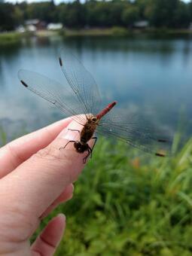
<svg viewBox="0 0 192 256">
<path fill-rule="evenodd" d="M 72 116 L 72 119 L 83 126 L 81 132 L 74 130 L 80 133 L 80 139 L 69 141 L 63 148 L 71 142 L 74 143 L 78 153 L 87 152 L 84 157 L 86 163 L 87 157 L 92 156 L 97 139 L 93 134 L 97 132 L 103 136 L 120 139 L 157 157 L 166 157 L 169 154 L 170 141 L 157 136 L 145 123 L 141 123 L 141 120 L 127 116 L 123 111 L 115 111 L 116 101 L 101 108 L 102 99 L 96 81 L 70 50 L 60 51 L 59 66 L 68 86 L 26 69 L 20 69 L 18 77 L 24 87 L 47 99 L 63 114 Z M 92 148 L 88 144 L 90 139 L 94 140 Z"/>
</svg>

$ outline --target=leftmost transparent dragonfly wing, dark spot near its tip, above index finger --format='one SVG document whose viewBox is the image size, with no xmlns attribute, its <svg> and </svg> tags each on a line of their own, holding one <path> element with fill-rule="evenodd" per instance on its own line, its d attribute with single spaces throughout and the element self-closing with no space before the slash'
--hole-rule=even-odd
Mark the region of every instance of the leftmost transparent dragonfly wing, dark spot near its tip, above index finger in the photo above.
<svg viewBox="0 0 192 256">
<path fill-rule="evenodd" d="M 86 114 L 82 112 L 81 105 L 74 92 L 67 87 L 51 80 L 44 75 L 21 69 L 18 72 L 21 83 L 33 93 L 47 99 L 53 105 L 56 105 L 66 115 Z M 80 123 L 84 123 L 84 117 L 74 117 Z"/>
</svg>

